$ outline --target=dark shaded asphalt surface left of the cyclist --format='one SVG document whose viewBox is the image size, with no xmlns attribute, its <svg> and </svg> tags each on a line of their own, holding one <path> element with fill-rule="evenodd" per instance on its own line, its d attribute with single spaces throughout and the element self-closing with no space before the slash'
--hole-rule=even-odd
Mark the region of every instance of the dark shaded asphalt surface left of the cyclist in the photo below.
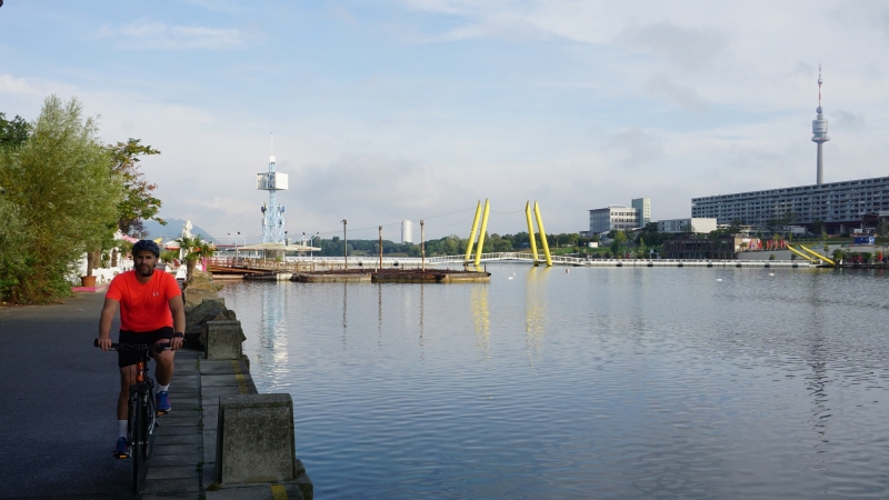
<svg viewBox="0 0 889 500">
<path fill-rule="evenodd" d="M 102 300 L 0 308 L 0 498 L 134 498 L 111 458 L 117 353 L 92 346 Z"/>
</svg>

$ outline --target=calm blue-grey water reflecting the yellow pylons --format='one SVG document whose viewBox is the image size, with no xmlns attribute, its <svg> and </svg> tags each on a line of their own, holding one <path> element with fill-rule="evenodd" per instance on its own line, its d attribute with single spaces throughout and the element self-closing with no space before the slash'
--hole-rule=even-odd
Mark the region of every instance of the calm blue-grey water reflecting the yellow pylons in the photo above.
<svg viewBox="0 0 889 500">
<path fill-rule="evenodd" d="M 887 277 L 488 269 L 227 284 L 318 498 L 889 497 Z"/>
</svg>

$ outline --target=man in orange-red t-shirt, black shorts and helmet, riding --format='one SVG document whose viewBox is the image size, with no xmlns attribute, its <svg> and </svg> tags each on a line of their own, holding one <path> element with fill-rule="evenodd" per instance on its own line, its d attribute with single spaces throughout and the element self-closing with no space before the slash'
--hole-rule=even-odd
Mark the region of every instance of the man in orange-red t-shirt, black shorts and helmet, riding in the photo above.
<svg viewBox="0 0 889 500">
<path fill-rule="evenodd" d="M 104 306 L 99 319 L 99 347 L 111 348 L 111 321 L 120 306 L 120 340 L 127 344 L 169 343 L 170 350 L 154 352 L 154 378 L 157 384 L 158 412 L 171 410 L 169 400 L 170 380 L 173 376 L 174 351 L 182 347 L 186 329 L 186 310 L 179 284 L 168 272 L 154 272 L 160 257 L 158 244 L 140 240 L 132 246 L 134 269 L 114 277 L 104 296 Z M 114 457 L 130 456 L 127 441 L 127 402 L 130 386 L 136 383 L 138 354 L 131 350 L 118 351 L 120 367 L 120 396 L 118 397 L 118 443 Z"/>
</svg>

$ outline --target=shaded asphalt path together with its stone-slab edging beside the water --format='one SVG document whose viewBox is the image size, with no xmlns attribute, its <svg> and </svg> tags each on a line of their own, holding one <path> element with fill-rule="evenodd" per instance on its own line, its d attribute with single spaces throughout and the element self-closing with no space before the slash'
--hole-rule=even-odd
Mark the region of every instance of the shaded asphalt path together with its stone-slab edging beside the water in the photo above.
<svg viewBox="0 0 889 500">
<path fill-rule="evenodd" d="M 256 386 L 244 361 L 206 361 L 184 349 L 176 354 L 173 408 L 160 419 L 146 491 L 131 492 L 132 462 L 111 457 L 117 353 L 92 346 L 103 297 L 0 308 L 0 499 L 303 498 L 297 483 L 203 491 L 214 477 L 219 397 L 256 393 Z"/>
</svg>

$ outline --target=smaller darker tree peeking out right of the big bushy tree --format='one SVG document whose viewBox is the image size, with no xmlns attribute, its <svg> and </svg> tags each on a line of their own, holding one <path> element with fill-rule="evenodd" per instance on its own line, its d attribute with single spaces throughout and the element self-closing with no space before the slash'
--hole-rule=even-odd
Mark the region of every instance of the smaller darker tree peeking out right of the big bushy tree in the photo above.
<svg viewBox="0 0 889 500">
<path fill-rule="evenodd" d="M 139 171 L 139 156 L 160 154 L 160 151 L 140 142 L 140 139 L 130 138 L 127 142 L 107 146 L 111 153 L 111 171 L 123 179 L 124 197 L 118 204 L 118 229 L 131 236 L 144 231 L 142 221 L 146 220 L 154 219 L 162 226 L 167 224 L 157 217 L 161 201 L 152 192 L 158 186 L 149 184 Z"/>
</svg>

